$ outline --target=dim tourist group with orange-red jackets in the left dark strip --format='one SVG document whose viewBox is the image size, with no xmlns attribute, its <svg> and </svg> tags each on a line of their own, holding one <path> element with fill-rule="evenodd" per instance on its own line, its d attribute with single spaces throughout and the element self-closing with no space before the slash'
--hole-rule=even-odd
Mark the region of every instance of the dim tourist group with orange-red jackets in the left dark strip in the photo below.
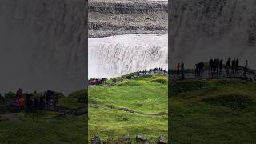
<svg viewBox="0 0 256 144">
<path fill-rule="evenodd" d="M 36 112 L 48 109 L 49 106 L 56 106 L 57 102 L 58 96 L 50 90 L 44 94 L 38 94 L 37 91 L 34 91 L 33 94 L 23 94 L 23 90 L 18 89 L 14 99 L 14 105 L 17 106 L 19 112 Z"/>
</svg>

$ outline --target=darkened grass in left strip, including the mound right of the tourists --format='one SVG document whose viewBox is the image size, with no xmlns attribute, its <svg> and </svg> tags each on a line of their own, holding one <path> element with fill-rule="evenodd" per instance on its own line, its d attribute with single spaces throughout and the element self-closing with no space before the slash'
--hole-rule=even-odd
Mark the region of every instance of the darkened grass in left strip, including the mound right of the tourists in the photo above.
<svg viewBox="0 0 256 144">
<path fill-rule="evenodd" d="M 58 105 L 67 108 L 85 106 L 85 90 L 61 98 Z M 58 112 L 40 110 L 38 113 L 10 114 L 10 119 L 0 117 L 0 143 L 18 144 L 69 144 L 86 143 L 86 117 L 59 117 Z"/>
</svg>

